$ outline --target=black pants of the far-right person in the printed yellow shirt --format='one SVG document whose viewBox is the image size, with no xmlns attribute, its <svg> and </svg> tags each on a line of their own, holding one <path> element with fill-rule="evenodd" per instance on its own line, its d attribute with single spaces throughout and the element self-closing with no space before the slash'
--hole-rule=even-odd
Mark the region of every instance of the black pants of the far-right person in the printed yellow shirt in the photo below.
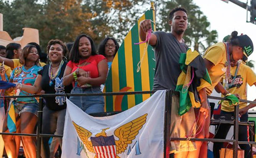
<svg viewBox="0 0 256 158">
<path fill-rule="evenodd" d="M 230 114 L 234 116 L 234 112 L 225 112 L 221 111 L 221 114 Z M 241 122 L 248 122 L 248 113 L 243 114 L 240 117 Z M 217 126 L 218 128 L 219 126 Z M 215 139 L 226 139 L 227 132 L 229 132 L 231 125 L 228 124 L 221 124 L 219 127 L 219 130 L 217 131 L 215 135 Z M 248 141 L 248 134 L 247 134 L 247 126 L 239 126 L 239 134 L 238 134 L 238 140 L 239 141 Z M 251 157 L 251 148 L 249 144 L 239 144 L 242 150 L 244 150 L 244 158 L 250 158 Z M 223 143 L 214 142 L 213 144 L 213 154 L 215 158 L 220 157 L 220 150 L 221 148 L 225 148 L 226 146 L 223 145 Z"/>
</svg>

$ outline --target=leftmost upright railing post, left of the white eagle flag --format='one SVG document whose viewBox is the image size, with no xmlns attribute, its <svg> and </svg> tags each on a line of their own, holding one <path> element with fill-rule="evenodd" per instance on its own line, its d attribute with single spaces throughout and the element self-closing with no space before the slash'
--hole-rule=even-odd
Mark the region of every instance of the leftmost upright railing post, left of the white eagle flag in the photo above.
<svg viewBox="0 0 256 158">
<path fill-rule="evenodd" d="M 38 122 L 36 130 L 36 158 L 41 157 L 41 136 L 42 133 L 42 116 L 43 116 L 43 98 L 39 98 Z"/>
</svg>

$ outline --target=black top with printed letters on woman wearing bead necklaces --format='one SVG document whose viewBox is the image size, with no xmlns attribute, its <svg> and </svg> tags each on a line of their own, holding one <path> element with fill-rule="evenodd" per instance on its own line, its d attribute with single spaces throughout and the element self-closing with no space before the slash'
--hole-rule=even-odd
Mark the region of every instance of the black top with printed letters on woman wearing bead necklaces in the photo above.
<svg viewBox="0 0 256 158">
<path fill-rule="evenodd" d="M 50 77 L 49 77 L 49 66 L 45 65 L 42 70 L 38 72 L 39 75 L 42 75 L 42 81 L 41 81 L 41 87 L 42 90 L 45 91 L 45 94 L 64 94 L 64 93 L 70 93 L 73 86 L 70 84 L 69 86 L 64 87 L 62 83 L 62 77 L 65 71 L 65 67 L 67 65 L 67 62 L 64 62 L 64 64 L 61 67 L 61 72 L 58 77 L 55 78 L 53 81 L 53 84 L 50 86 Z M 56 84 L 57 81 L 57 84 Z M 59 111 L 63 110 L 67 107 L 65 96 L 56 96 L 56 97 L 45 97 L 45 105 L 50 108 L 50 110 L 53 111 Z"/>
</svg>

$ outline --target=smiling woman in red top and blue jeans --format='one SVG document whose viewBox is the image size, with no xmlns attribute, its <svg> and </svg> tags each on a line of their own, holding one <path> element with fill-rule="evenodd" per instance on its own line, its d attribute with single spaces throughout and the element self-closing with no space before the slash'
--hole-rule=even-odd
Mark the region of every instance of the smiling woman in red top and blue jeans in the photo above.
<svg viewBox="0 0 256 158">
<path fill-rule="evenodd" d="M 96 54 L 96 48 L 91 37 L 79 35 L 70 52 L 63 77 L 64 86 L 73 84 L 74 93 L 101 93 L 100 85 L 106 81 L 108 64 L 103 55 Z M 71 96 L 71 102 L 84 112 L 104 112 L 103 96 Z"/>
</svg>

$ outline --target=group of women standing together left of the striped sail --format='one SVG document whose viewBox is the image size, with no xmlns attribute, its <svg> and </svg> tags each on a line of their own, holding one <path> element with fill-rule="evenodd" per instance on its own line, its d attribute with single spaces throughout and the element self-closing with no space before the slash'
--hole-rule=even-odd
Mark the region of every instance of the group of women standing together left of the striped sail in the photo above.
<svg viewBox="0 0 256 158">
<path fill-rule="evenodd" d="M 3 63 L 0 66 L 0 80 L 16 84 L 14 88 L 1 90 L 2 96 L 101 93 L 100 86 L 105 83 L 110 68 L 108 63 L 113 61 L 119 47 L 115 38 L 107 37 L 97 51 L 94 41 L 86 34 L 79 35 L 73 43 L 64 44 L 60 40 L 50 40 L 46 47 L 48 59 L 46 64 L 40 61 L 41 48 L 36 45 L 30 43 L 22 48 L 20 44 L 10 43 L 6 47 L 0 47 L 0 62 Z M 17 93 L 17 90 L 20 93 Z M 69 99 L 88 114 L 104 111 L 103 96 L 72 96 Z M 65 97 L 45 97 L 44 105 L 42 133 L 62 135 L 67 107 Z M 12 106 L 16 117 L 14 128 L 8 125 L 8 113 Z M 39 110 L 38 98 L 18 97 L 15 100 L 1 98 L 2 107 L 5 107 L 5 110 L 1 113 L 4 118 L 3 124 L 0 124 L 3 127 L 1 132 L 35 133 Z M 36 157 L 33 137 L 13 135 L 2 135 L 2 137 L 8 157 L 18 156 L 21 141 L 25 156 Z M 53 138 L 51 148 L 54 151 L 50 151 L 49 139 L 50 137 L 42 138 L 41 157 L 54 157 L 54 151 L 62 145 L 61 138 Z M 3 146 L 0 150 L 3 151 Z"/>
</svg>

